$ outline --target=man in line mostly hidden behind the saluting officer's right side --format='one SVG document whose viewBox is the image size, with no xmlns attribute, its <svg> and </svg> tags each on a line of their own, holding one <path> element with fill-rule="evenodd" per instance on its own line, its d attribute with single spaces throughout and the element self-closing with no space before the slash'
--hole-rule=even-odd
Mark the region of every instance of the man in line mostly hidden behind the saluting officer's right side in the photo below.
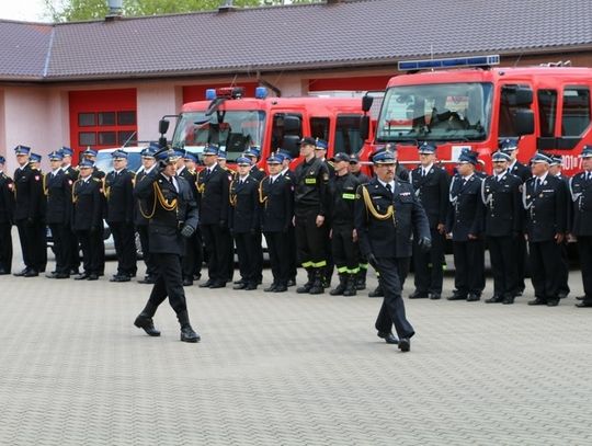
<svg viewBox="0 0 592 446">
<path fill-rule="evenodd" d="M 195 171 L 197 160 L 197 155 L 185 151 L 183 156 L 184 165 L 177 170 L 177 174 L 184 178 L 190 185 L 195 201 L 197 201 L 197 172 Z M 185 240 L 185 255 L 183 255 L 182 261 L 183 286 L 192 286 L 193 276 L 200 275 L 203 262 L 202 255 L 202 237 L 200 231 L 196 230 L 193 236 Z"/>
</svg>

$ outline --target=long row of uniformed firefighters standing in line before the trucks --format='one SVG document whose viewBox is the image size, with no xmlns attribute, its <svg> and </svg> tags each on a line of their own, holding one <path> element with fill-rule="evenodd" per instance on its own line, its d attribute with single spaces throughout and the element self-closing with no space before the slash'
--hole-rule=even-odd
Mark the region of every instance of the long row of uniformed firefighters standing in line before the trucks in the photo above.
<svg viewBox="0 0 592 446">
<path fill-rule="evenodd" d="M 326 141 L 305 137 L 299 147 L 301 162 L 294 171 L 289 152 L 278 149 L 265 160 L 266 174 L 257 167 L 257 147 L 236 160 L 237 171 L 226 167 L 225 153 L 215 146 L 203 150 L 204 169 L 198 172 L 197 155 L 177 153 L 175 176 L 190 184 L 200 214 L 182 255 L 184 286 L 201 277 L 205 259 L 207 281 L 200 287 L 226 287 L 234 279 L 236 247 L 240 277 L 234 289 L 257 289 L 264 236 L 273 275 L 265 291 L 284 293 L 296 285 L 297 267 L 303 266 L 307 279 L 296 293 L 325 293 L 337 270 L 339 283 L 329 293 L 354 296 L 366 286 L 368 263 L 377 266 L 387 256 L 382 250 L 391 250 L 388 256 L 401 285 L 413 262 L 414 291 L 409 297 L 440 299 L 445 242 L 452 238 L 455 289 L 449 300 L 480 300 L 487 247 L 494 283 L 487 302 L 512 304 L 521 296 L 528 265 L 535 296 L 528 304 L 556 306 L 569 293 L 569 235 L 578 241 L 585 291 L 578 306 L 592 307 L 592 146 L 584 147 L 583 171 L 572 179 L 561 174 L 560 157 L 538 152 L 530 167 L 517 162 L 515 139 L 504 140 L 492 153 L 491 175 L 476 169 L 477 153 L 464 151 L 452 179 L 429 142 L 418 147 L 419 165 L 410 172 L 397 163 L 396 147 L 377 151 L 373 179 L 361 173 L 355 155 L 327 160 Z M 15 225 L 25 268 L 14 275 L 34 277 L 45 271 L 48 227 L 56 266 L 46 276 L 98 279 L 104 272 L 104 219 L 117 256 L 111 282 L 136 276 L 138 233 L 147 267 L 139 282 L 155 283 L 158 265 L 148 226 L 155 209 L 168 202 L 158 196 L 141 199 L 135 188 L 158 169 L 159 151 L 157 144 L 144 149 L 143 167 L 135 173 L 127 169 L 128 153 L 116 150 L 113 171 L 105 174 L 94 165 L 95 150 L 87 149 L 72 168 L 72 150 L 64 147 L 49 153 L 52 169 L 42 173 L 41 157 L 18 146 L 13 180 L 3 172 L 5 160 L 0 157 L 0 274 L 11 273 Z M 410 228 L 405 228 L 408 222 L 399 218 L 414 203 L 420 217 L 413 214 Z M 378 267 L 382 276 L 384 270 Z M 383 282 L 371 296 L 388 293 Z"/>
</svg>

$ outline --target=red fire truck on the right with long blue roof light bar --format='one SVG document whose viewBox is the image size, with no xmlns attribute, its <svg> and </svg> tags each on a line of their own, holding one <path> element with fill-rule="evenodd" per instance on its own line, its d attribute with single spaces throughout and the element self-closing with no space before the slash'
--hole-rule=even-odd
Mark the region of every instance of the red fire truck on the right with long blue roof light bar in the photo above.
<svg viewBox="0 0 592 446">
<path fill-rule="evenodd" d="M 592 144 L 592 69 L 563 66 L 494 67 L 499 56 L 400 61 L 388 82 L 373 144 L 396 144 L 402 163 L 418 162 L 418 144 L 437 146 L 453 164 L 463 149 L 490 153 L 500 140 L 520 138 L 519 159 L 537 150 L 561 155 L 565 171 L 578 171 L 578 155 Z M 369 101 L 364 101 L 369 108 Z M 364 158 L 364 157 L 363 157 Z"/>
</svg>

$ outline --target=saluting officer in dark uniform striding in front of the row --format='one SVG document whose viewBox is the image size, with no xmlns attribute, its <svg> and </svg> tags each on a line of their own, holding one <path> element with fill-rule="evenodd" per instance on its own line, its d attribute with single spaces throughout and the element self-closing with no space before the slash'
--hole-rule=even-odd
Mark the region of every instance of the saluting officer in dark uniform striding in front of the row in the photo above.
<svg viewBox="0 0 592 446">
<path fill-rule="evenodd" d="M 158 168 L 145 175 L 136 185 L 135 195 L 147 214 L 150 252 L 158 265 L 158 278 L 146 307 L 134 324 L 150 336 L 159 336 L 152 318 L 158 306 L 169 297 L 181 325 L 181 341 L 198 342 L 201 336 L 193 330 L 189 319 L 181 256 L 185 253 L 185 240 L 198 224 L 197 204 L 189 183 L 177 175 L 180 156 L 172 149 L 156 153 Z"/>
</svg>

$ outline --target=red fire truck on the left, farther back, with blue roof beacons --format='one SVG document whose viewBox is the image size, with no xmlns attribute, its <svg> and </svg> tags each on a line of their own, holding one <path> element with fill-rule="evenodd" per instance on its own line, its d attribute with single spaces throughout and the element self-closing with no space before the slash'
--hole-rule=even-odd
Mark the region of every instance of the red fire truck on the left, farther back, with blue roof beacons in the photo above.
<svg viewBox="0 0 592 446">
<path fill-rule="evenodd" d="M 357 153 L 363 145 L 360 124 L 364 115 L 360 99 L 267 98 L 263 87 L 255 89 L 254 98 L 243 98 L 240 87 L 212 89 L 206 91 L 205 101 L 183 105 L 170 144 L 197 155 L 206 144 L 216 144 L 226 151 L 229 163 L 257 146 L 260 165 L 278 148 L 297 158 L 297 141 L 303 136 L 327 140 L 328 157 Z M 168 126 L 162 119 L 161 135 Z"/>
</svg>

